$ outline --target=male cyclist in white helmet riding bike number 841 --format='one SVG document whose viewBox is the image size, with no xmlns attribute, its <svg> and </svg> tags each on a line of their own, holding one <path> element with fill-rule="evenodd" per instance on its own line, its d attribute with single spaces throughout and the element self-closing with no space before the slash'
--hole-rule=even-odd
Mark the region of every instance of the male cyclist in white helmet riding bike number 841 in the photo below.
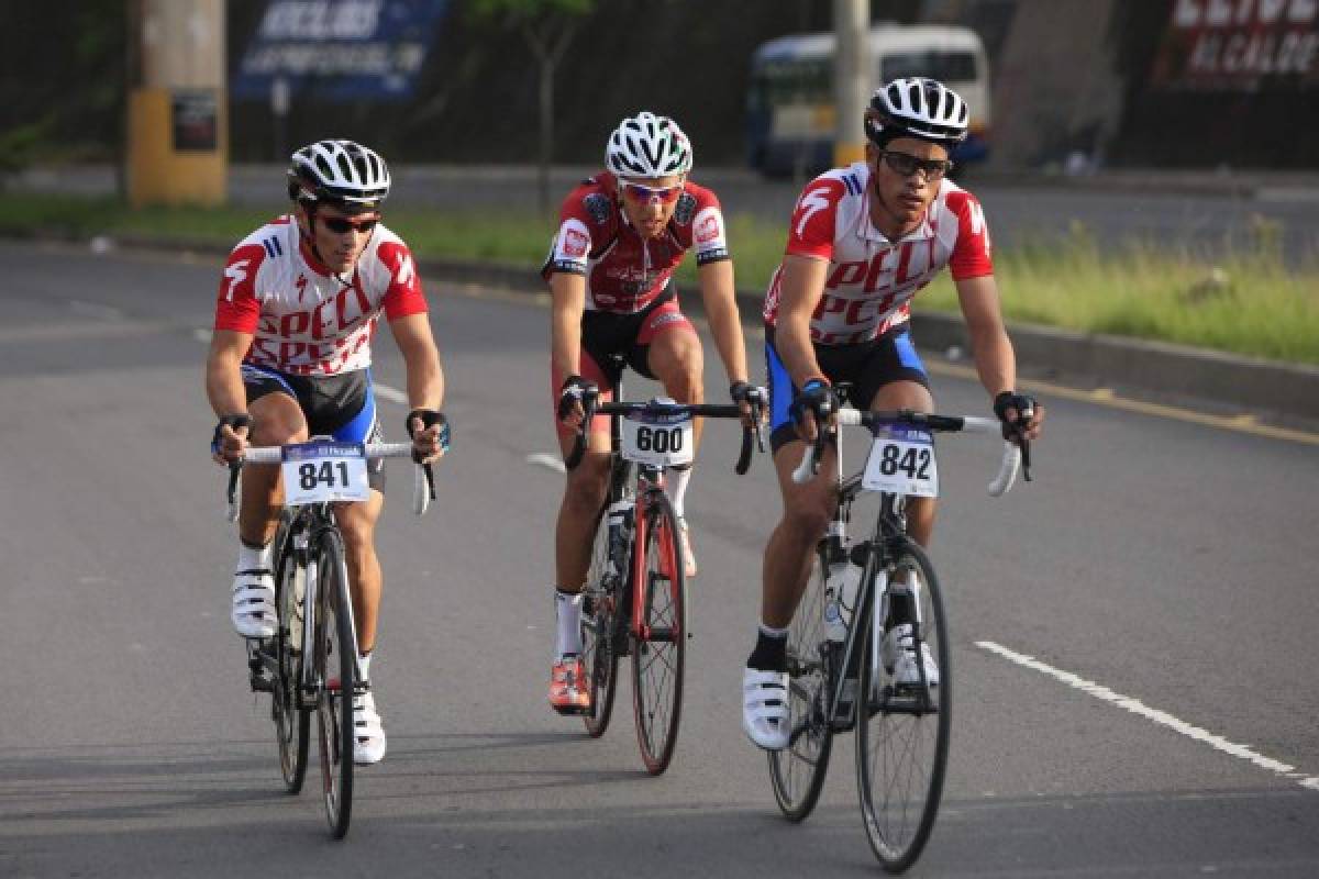
<svg viewBox="0 0 1319 879">
<path fill-rule="evenodd" d="M 377 441 L 371 339 L 381 314 L 408 368 L 406 430 L 415 455 L 438 459 L 445 380 L 412 253 L 380 223 L 389 196 L 384 159 L 352 141 L 318 141 L 293 154 L 288 190 L 293 212 L 245 237 L 220 278 L 206 361 L 206 393 L 219 416 L 211 443 L 216 461 L 236 460 L 249 444 L 282 445 L 314 435 Z M 353 697 L 359 763 L 385 754 L 369 691 L 381 590 L 375 550 L 381 465 L 369 467 L 369 501 L 335 510 L 368 687 Z M 278 467 L 243 468 L 232 619 L 244 638 L 276 631 L 270 540 L 281 498 Z"/>
</svg>

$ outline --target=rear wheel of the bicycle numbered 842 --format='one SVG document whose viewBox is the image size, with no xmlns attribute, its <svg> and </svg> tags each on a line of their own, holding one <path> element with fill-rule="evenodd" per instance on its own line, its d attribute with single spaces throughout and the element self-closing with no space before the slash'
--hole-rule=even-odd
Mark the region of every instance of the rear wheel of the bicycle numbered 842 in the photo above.
<svg viewBox="0 0 1319 879">
<path fill-rule="evenodd" d="M 828 721 L 828 651 L 835 647 L 824 638 L 824 577 L 828 565 L 823 550 L 816 550 L 806 592 L 787 627 L 787 747 L 769 752 L 769 778 L 774 799 L 790 821 L 802 821 L 815 808 L 834 731 Z M 842 648 L 842 644 L 838 644 Z"/>
</svg>

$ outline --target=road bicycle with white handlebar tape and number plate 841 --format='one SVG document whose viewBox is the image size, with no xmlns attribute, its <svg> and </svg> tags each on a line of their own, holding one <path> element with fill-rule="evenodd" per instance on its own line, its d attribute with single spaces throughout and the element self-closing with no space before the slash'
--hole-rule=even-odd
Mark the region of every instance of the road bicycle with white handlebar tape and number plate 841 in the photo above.
<svg viewBox="0 0 1319 879">
<path fill-rule="evenodd" d="M 442 436 L 447 447 L 447 436 Z M 273 543 L 278 623 L 270 638 L 249 638 L 248 671 L 255 692 L 270 693 L 270 720 L 280 771 L 298 793 L 307 768 L 311 713 L 317 716 L 321 783 L 330 834 L 342 839 L 352 817 L 352 697 L 365 692 L 357 668 L 357 637 L 348 592 L 343 535 L 335 506 L 369 498 L 367 463 L 412 457 L 410 443 L 307 443 L 253 447 L 230 465 L 228 519 L 237 521 L 244 464 L 280 464 L 284 510 Z M 418 465 L 413 510 L 435 497 L 430 465 Z"/>
</svg>

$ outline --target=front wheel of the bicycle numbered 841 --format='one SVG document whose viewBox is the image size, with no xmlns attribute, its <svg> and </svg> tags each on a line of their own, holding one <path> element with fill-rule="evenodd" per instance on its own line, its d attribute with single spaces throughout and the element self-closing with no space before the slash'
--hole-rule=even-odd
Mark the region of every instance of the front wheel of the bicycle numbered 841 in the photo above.
<svg viewBox="0 0 1319 879">
<path fill-rule="evenodd" d="M 344 568 L 343 538 L 321 534 L 317 546 L 315 672 L 321 781 L 330 833 L 342 839 L 352 816 L 352 693 L 357 642 Z"/>
</svg>

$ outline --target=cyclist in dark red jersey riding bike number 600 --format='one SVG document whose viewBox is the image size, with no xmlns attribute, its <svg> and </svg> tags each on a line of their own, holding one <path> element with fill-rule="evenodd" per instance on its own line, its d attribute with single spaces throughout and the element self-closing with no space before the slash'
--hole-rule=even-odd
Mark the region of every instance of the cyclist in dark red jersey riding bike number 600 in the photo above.
<svg viewBox="0 0 1319 879">
<path fill-rule="evenodd" d="M 673 271 L 689 250 L 695 250 L 698 285 L 729 394 L 749 412 L 751 385 L 724 219 L 715 194 L 687 181 L 687 137 L 671 119 L 641 112 L 624 119 L 611 134 L 605 166 L 563 200 L 542 270 L 553 297 L 551 393 L 565 456 L 583 418 L 583 393 L 598 387 L 609 399 L 624 366 L 658 380 L 678 402 L 704 401 L 700 340 L 678 307 L 673 286 Z M 598 416 L 586 456 L 567 476 L 555 528 L 558 642 L 550 704 L 562 713 L 590 708 L 578 659 L 580 590 L 608 488 L 608 449 L 609 419 Z M 696 561 L 683 518 L 690 478 L 690 469 L 673 472 L 669 490 L 686 575 L 692 577 Z"/>
</svg>

